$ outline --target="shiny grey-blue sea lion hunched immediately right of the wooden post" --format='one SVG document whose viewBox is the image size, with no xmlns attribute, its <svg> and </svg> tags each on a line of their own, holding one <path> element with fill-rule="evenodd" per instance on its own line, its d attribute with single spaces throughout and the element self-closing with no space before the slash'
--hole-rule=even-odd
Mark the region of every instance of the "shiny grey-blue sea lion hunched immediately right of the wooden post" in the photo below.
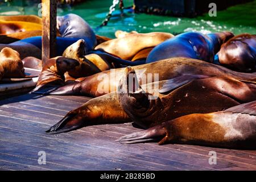
<svg viewBox="0 0 256 182">
<path fill-rule="evenodd" d="M 79 15 L 57 16 L 57 29 L 63 38 L 80 38 L 86 42 L 87 49 L 93 49 L 97 40 L 92 28 Z"/>
</svg>

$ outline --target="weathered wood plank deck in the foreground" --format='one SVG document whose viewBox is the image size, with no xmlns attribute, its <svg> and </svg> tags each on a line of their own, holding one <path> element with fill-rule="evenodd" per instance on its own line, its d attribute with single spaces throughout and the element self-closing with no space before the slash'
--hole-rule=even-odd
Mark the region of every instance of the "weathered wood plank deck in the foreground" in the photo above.
<svg viewBox="0 0 256 182">
<path fill-rule="evenodd" d="M 256 170 L 256 151 L 156 143 L 119 144 L 140 131 L 130 124 L 88 126 L 69 133 L 44 131 L 90 98 L 24 94 L 0 101 L 1 170 Z M 47 164 L 38 164 L 45 151 Z M 217 152 L 210 165 L 209 151 Z"/>
</svg>

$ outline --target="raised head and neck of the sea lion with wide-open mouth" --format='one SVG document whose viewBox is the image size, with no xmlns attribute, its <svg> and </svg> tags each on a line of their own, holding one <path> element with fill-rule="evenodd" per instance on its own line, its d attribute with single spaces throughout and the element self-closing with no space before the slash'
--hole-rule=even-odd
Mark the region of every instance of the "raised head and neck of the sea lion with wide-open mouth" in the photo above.
<svg viewBox="0 0 256 182">
<path fill-rule="evenodd" d="M 131 67 L 125 69 L 124 75 L 119 82 L 117 92 L 122 109 L 139 126 L 147 128 L 150 125 L 154 125 L 154 122 L 158 122 L 157 118 L 154 119 L 154 115 L 157 115 L 156 113 L 158 113 L 161 108 L 161 106 L 159 106 L 160 98 L 156 97 L 153 100 L 150 99 L 152 95 L 145 92 L 141 86 L 139 86 L 135 71 Z M 148 115 L 151 115 L 151 121 L 145 121 Z"/>
</svg>

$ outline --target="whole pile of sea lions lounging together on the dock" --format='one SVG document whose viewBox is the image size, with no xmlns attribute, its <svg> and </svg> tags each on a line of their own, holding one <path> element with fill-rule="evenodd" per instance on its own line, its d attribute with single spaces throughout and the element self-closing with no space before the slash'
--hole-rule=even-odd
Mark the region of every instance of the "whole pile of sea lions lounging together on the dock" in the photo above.
<svg viewBox="0 0 256 182">
<path fill-rule="evenodd" d="M 256 35 L 119 30 L 110 39 L 68 14 L 57 18 L 57 57 L 42 64 L 40 18 L 0 16 L 0 26 L 0 78 L 25 77 L 23 63 L 42 69 L 31 93 L 94 97 L 50 134 L 133 121 L 146 130 L 118 142 L 256 147 Z"/>
</svg>

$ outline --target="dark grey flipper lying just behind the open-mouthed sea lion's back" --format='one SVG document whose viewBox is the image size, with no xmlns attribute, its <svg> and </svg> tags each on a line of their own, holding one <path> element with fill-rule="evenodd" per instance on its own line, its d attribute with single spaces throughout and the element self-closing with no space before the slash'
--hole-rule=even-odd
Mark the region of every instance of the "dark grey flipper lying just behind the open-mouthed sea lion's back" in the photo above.
<svg viewBox="0 0 256 182">
<path fill-rule="evenodd" d="M 179 77 L 172 78 L 168 80 L 165 84 L 163 84 L 162 88 L 159 90 L 159 93 L 168 93 L 172 90 L 179 88 L 180 86 L 183 86 L 187 84 L 188 82 L 191 82 L 193 80 L 202 79 L 202 78 L 208 78 L 208 76 L 204 75 L 183 75 Z"/>
</svg>

